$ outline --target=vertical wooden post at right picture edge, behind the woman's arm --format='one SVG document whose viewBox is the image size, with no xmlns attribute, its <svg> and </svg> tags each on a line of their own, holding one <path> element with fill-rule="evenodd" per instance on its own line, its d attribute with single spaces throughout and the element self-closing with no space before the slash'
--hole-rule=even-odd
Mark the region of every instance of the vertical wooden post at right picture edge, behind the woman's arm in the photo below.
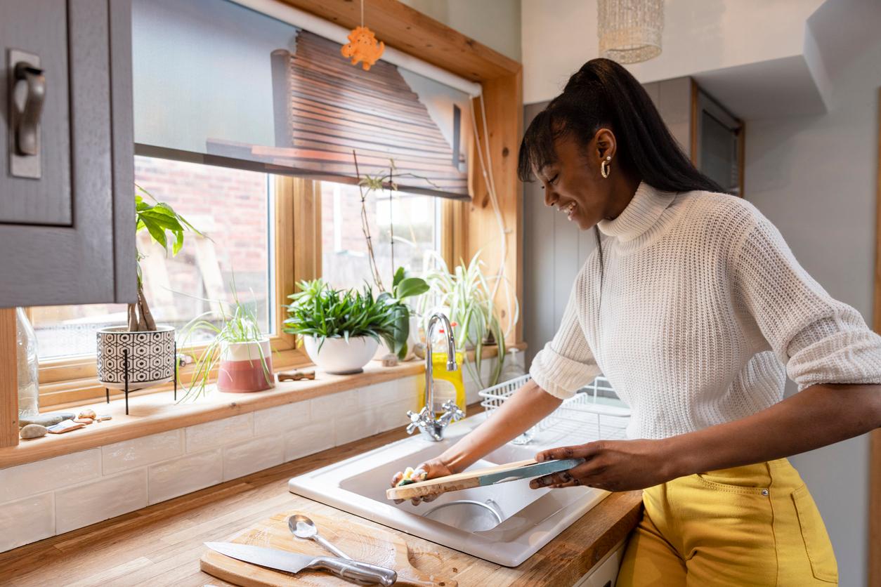
<svg viewBox="0 0 881 587">
<path fill-rule="evenodd" d="M 881 88 L 878 90 L 877 194 L 875 197 L 875 304 L 872 327 L 881 333 Z M 870 433 L 869 584 L 881 585 L 881 429 Z"/>
</svg>

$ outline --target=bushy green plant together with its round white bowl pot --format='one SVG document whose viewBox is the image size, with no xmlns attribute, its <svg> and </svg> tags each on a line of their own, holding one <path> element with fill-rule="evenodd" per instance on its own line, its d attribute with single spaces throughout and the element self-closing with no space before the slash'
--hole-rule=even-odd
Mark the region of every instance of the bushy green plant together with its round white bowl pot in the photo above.
<svg viewBox="0 0 881 587">
<path fill-rule="evenodd" d="M 389 349 L 405 344 L 402 322 L 407 317 L 390 296 L 374 298 L 367 285 L 360 291 L 335 290 L 322 279 L 298 287 L 298 293 L 288 296 L 292 303 L 286 306 L 285 332 L 302 336 L 307 355 L 322 371 L 358 373 L 380 341 Z"/>
</svg>

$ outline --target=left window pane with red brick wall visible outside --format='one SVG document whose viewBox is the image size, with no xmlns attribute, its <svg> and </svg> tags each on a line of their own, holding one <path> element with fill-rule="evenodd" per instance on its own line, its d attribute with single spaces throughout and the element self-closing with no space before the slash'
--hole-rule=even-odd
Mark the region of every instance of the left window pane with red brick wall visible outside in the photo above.
<svg viewBox="0 0 881 587">
<path fill-rule="evenodd" d="M 172 257 L 152 243 L 146 231 L 138 234 L 138 250 L 144 255 L 144 294 L 157 323 L 180 328 L 204 312 L 211 312 L 206 319 L 217 322 L 220 309 L 211 300 L 231 301 L 234 279 L 240 299 L 255 305 L 263 332 L 273 334 L 274 178 L 260 172 L 137 157 L 135 180 L 205 235 L 188 232 L 181 252 Z M 30 312 L 41 359 L 93 355 L 100 328 L 126 323 L 122 304 L 34 307 Z M 202 334 L 201 340 L 207 338 Z"/>
</svg>

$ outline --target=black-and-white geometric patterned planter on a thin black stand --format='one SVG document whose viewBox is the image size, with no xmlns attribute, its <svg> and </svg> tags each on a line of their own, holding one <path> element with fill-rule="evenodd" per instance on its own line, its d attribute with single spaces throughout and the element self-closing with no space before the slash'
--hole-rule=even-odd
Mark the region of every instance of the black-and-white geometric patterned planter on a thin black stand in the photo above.
<svg viewBox="0 0 881 587">
<path fill-rule="evenodd" d="M 98 381 L 105 387 L 125 388 L 128 354 L 129 391 L 174 379 L 174 327 L 133 333 L 127 327 L 98 331 Z"/>
</svg>

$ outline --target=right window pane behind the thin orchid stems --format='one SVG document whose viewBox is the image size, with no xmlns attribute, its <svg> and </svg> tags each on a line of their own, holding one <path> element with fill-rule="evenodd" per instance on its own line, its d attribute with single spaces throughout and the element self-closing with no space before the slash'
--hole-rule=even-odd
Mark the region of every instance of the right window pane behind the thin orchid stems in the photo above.
<svg viewBox="0 0 881 587">
<path fill-rule="evenodd" d="M 344 289 L 373 284 L 361 226 L 358 186 L 323 181 L 322 277 Z M 441 201 L 426 195 L 373 192 L 366 198 L 366 216 L 374 257 L 385 287 L 398 267 L 422 271 L 427 251 L 441 249 Z"/>
</svg>

